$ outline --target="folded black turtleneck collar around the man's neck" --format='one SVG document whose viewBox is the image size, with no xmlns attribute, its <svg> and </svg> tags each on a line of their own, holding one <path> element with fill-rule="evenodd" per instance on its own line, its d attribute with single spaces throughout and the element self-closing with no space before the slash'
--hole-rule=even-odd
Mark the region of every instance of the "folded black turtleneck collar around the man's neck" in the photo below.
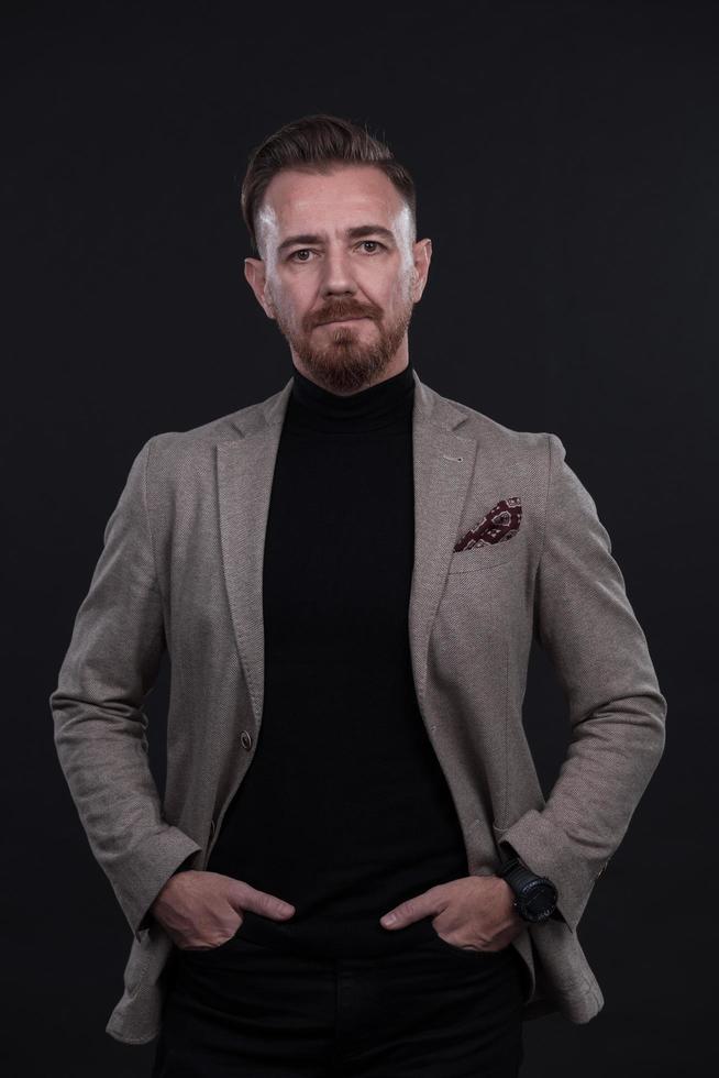
<svg viewBox="0 0 719 1078">
<path fill-rule="evenodd" d="M 376 385 L 347 396 L 332 393 L 294 369 L 288 402 L 290 422 L 316 430 L 375 430 L 411 415 L 414 395 L 412 365 Z"/>
</svg>

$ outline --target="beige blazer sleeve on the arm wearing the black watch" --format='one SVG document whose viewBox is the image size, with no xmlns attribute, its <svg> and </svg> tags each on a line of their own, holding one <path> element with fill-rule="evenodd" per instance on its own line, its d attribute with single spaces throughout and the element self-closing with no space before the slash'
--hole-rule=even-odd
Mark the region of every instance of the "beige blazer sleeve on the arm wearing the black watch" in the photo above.
<svg viewBox="0 0 719 1078">
<path fill-rule="evenodd" d="M 571 738 L 540 812 L 504 833 L 558 891 L 572 931 L 664 751 L 666 700 L 596 505 L 547 435 L 550 481 L 534 635 L 567 698 Z"/>
</svg>

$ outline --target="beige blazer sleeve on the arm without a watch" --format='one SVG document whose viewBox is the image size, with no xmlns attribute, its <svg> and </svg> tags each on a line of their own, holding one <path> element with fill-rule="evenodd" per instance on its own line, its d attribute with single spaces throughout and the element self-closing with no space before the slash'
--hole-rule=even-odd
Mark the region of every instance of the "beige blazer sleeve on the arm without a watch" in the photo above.
<svg viewBox="0 0 719 1078">
<path fill-rule="evenodd" d="M 140 939 L 174 870 L 201 847 L 163 818 L 143 702 L 166 647 L 145 501 L 151 438 L 135 457 L 51 694 L 54 740 L 90 848 Z"/>
</svg>

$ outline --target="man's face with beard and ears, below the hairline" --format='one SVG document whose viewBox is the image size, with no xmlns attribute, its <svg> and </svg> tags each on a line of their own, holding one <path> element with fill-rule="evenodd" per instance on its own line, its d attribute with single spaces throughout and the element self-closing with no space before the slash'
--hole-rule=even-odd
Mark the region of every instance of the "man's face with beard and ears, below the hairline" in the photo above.
<svg viewBox="0 0 719 1078">
<path fill-rule="evenodd" d="M 245 260 L 245 277 L 302 374 L 349 394 L 407 366 L 432 245 L 412 242 L 409 208 L 379 168 L 278 173 L 257 244 L 262 258 Z"/>
</svg>

